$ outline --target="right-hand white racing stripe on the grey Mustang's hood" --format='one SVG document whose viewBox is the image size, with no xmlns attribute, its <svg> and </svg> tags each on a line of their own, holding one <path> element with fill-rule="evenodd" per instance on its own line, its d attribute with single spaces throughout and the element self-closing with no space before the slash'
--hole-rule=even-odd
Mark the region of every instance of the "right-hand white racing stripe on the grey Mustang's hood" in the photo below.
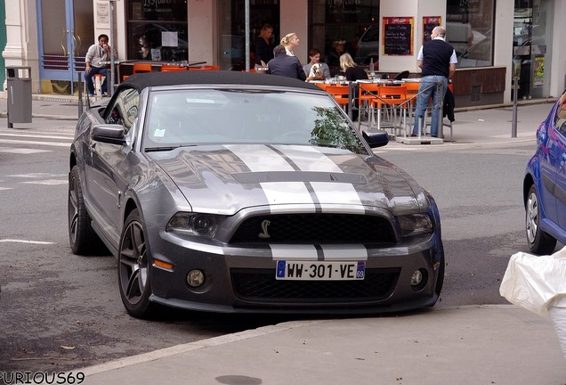
<svg viewBox="0 0 566 385">
<path fill-rule="evenodd" d="M 284 153 L 289 160 L 292 160 L 302 171 L 344 173 L 333 160 L 328 158 L 327 155 L 320 152 L 317 148 L 296 146 L 296 151 L 301 152 L 301 157 L 297 157 L 295 156 L 296 152 L 294 146 L 274 145 L 273 147 Z M 312 155 L 305 155 L 305 152 L 311 152 Z M 360 214 L 365 212 L 360 201 L 360 195 L 353 184 L 311 182 L 311 186 L 319 202 L 322 203 L 322 212 L 324 212 L 325 203 L 358 207 Z"/>
</svg>

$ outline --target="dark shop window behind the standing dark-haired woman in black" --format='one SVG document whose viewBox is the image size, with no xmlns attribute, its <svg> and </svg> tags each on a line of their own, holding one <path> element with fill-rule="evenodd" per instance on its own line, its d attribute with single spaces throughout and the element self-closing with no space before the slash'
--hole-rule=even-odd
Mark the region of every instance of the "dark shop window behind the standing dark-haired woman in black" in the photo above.
<svg viewBox="0 0 566 385">
<path fill-rule="evenodd" d="M 218 2 L 219 45 L 222 70 L 246 70 L 246 4 L 244 0 Z M 255 0 L 249 4 L 250 66 L 254 68 L 255 43 L 264 24 L 273 29 L 271 45 L 279 44 L 279 0 Z"/>
</svg>

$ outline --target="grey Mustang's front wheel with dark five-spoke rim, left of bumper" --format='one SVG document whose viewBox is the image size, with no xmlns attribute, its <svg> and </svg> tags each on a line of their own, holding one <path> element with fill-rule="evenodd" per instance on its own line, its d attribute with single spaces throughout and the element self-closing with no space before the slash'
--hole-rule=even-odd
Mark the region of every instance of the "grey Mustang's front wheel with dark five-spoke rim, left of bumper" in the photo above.
<svg viewBox="0 0 566 385">
<path fill-rule="evenodd" d="M 145 244 L 142 218 L 134 209 L 125 220 L 120 236 L 117 270 L 120 296 L 125 310 L 136 318 L 148 318 L 155 304 L 150 302 L 150 257 Z"/>
</svg>

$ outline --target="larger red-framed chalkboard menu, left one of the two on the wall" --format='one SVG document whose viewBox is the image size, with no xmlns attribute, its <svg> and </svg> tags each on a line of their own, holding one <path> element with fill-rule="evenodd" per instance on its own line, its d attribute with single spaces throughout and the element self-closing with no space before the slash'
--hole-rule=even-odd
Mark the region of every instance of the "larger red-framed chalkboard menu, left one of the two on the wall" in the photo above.
<svg viewBox="0 0 566 385">
<path fill-rule="evenodd" d="M 413 54 L 413 18 L 384 18 L 384 55 Z"/>
</svg>

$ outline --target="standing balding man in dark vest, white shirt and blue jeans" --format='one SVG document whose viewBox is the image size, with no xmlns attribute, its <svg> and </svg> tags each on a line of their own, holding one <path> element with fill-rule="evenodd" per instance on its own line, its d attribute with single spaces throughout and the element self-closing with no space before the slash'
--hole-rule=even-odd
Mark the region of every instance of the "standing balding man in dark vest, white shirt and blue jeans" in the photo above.
<svg viewBox="0 0 566 385">
<path fill-rule="evenodd" d="M 452 45 L 446 43 L 446 29 L 441 26 L 434 27 L 432 40 L 421 46 L 416 65 L 423 70 L 423 77 L 418 86 L 416 97 L 415 125 L 411 136 L 418 133 L 419 120 L 425 122 L 425 112 L 428 103 L 433 97 L 433 119 L 431 120 L 431 136 L 438 137 L 439 108 L 444 102 L 444 95 L 448 80 L 456 70 L 456 51 Z"/>
</svg>

